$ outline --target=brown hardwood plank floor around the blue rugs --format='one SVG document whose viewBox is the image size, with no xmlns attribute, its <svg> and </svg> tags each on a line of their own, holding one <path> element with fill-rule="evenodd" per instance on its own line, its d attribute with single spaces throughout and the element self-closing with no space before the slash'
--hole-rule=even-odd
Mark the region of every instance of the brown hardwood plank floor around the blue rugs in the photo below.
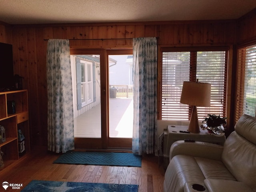
<svg viewBox="0 0 256 192">
<path fill-rule="evenodd" d="M 58 156 L 36 148 L 19 162 L 1 170 L 0 184 L 4 181 L 22 183 L 24 188 L 31 180 L 52 180 L 138 184 L 138 192 L 163 191 L 164 169 L 158 166 L 156 156 L 143 155 L 142 167 L 53 164 Z"/>
</svg>

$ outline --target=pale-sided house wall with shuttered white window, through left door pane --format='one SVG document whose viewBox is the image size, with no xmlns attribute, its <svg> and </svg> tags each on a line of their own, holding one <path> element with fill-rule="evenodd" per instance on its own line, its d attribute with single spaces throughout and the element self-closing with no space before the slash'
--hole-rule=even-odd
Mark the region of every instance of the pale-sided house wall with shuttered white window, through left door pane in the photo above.
<svg viewBox="0 0 256 192">
<path fill-rule="evenodd" d="M 71 55 L 74 118 L 100 104 L 100 58 Z"/>
</svg>

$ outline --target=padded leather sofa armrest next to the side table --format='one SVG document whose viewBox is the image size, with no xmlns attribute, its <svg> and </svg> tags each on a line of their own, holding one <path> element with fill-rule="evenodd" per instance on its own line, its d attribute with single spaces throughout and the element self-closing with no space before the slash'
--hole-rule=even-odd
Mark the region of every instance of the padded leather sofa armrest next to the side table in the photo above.
<svg viewBox="0 0 256 192">
<path fill-rule="evenodd" d="M 184 140 L 176 141 L 170 148 L 170 161 L 179 154 L 190 155 L 195 157 L 204 157 L 214 160 L 221 160 L 223 146 L 207 142 L 185 142 Z"/>
</svg>

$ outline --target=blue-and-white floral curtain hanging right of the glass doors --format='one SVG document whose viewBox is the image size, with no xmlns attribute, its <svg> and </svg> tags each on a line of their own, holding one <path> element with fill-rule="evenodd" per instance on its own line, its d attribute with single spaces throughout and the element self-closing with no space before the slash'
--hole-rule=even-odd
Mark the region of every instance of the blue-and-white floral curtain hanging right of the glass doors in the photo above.
<svg viewBox="0 0 256 192">
<path fill-rule="evenodd" d="M 132 152 L 142 155 L 157 151 L 157 41 L 133 39 L 134 120 Z"/>
</svg>

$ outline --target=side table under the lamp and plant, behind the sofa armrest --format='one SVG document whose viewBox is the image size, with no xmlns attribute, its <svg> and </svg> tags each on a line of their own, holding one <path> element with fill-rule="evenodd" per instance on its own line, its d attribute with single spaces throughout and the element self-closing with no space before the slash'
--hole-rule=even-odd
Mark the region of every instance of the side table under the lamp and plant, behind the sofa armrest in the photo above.
<svg viewBox="0 0 256 192">
<path fill-rule="evenodd" d="M 223 145 L 226 137 L 225 134 L 222 133 L 220 135 L 210 134 L 208 130 L 202 130 L 200 128 L 199 133 L 183 133 L 180 131 L 187 131 L 188 126 L 180 126 L 180 125 L 168 125 L 166 129 L 164 129 L 164 168 L 166 169 L 169 164 L 169 154 L 171 145 L 178 140 L 195 140 L 202 142 L 209 142 L 214 144 Z"/>
</svg>

